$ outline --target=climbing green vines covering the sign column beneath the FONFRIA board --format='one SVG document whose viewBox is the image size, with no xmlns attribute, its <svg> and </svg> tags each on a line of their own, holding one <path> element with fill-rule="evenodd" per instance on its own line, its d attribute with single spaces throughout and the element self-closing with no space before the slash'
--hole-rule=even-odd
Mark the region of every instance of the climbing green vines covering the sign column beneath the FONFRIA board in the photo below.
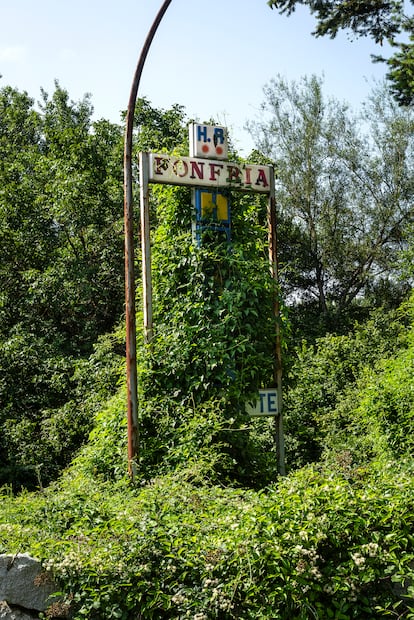
<svg viewBox="0 0 414 620">
<path fill-rule="evenodd" d="M 233 198 L 231 244 L 204 239 L 197 247 L 188 191 L 160 190 L 157 198 L 155 336 L 141 373 L 144 393 L 196 402 L 225 394 L 238 406 L 272 380 L 275 289 L 263 228 L 258 235 L 252 224 L 257 206 Z"/>
</svg>

